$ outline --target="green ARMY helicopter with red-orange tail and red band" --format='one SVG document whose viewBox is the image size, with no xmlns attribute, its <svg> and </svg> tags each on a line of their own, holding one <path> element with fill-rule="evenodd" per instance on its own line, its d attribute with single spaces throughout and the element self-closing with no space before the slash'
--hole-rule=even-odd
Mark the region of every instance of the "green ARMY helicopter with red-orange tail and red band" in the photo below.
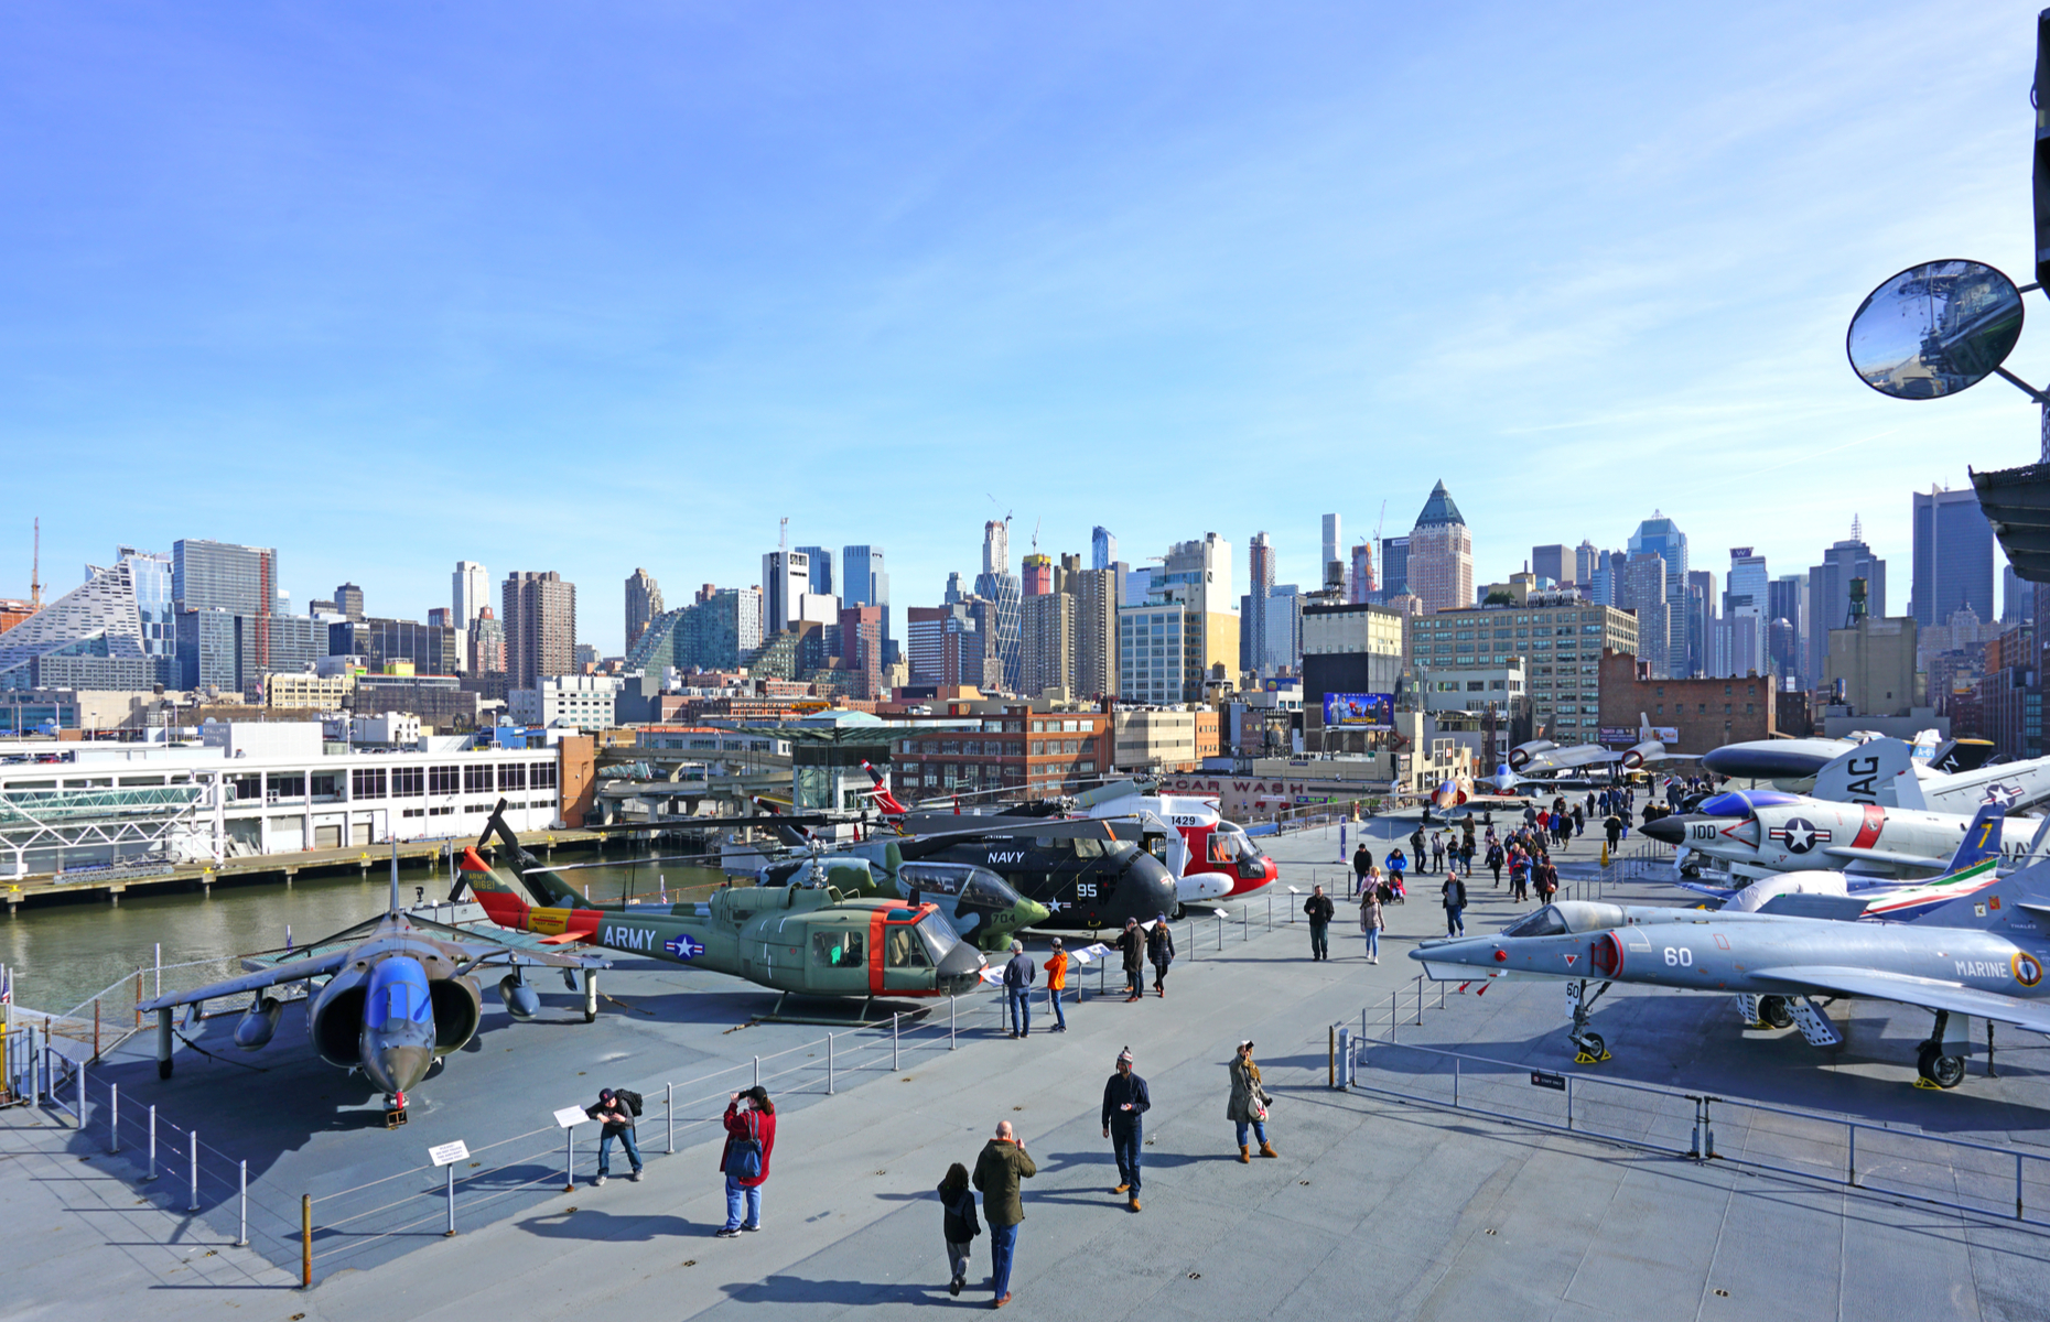
<svg viewBox="0 0 2050 1322">
<path fill-rule="evenodd" d="M 494 924 L 537 933 L 543 945 L 599 945 L 746 978 L 781 992 L 765 1019 L 783 1017 L 791 996 L 859 996 L 857 1019 L 867 1021 L 877 998 L 961 996 L 982 982 L 982 955 L 947 926 L 939 906 L 847 898 L 830 885 L 822 863 L 804 885 L 724 887 L 701 904 L 666 910 L 594 908 L 574 892 L 570 904 L 562 904 L 564 896 L 551 890 L 562 881 L 533 869 L 533 857 L 496 812 L 484 838 L 494 832 L 510 855 L 515 875 L 539 904 L 500 883 L 476 849 L 463 851 L 461 881 L 451 900 L 467 883 Z"/>
</svg>

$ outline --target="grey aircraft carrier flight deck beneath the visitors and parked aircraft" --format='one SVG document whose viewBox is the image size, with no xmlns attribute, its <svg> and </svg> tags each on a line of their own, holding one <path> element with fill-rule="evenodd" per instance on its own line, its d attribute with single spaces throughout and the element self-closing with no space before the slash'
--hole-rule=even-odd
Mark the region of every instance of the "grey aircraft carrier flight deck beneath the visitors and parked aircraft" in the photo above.
<svg viewBox="0 0 2050 1322">
<path fill-rule="evenodd" d="M 1357 830 L 1357 828 L 1355 828 Z M 1406 822 L 1376 824 L 1404 834 Z M 256 1054 L 225 1047 L 232 1017 L 207 1023 L 156 1080 L 148 1035 L 88 1072 L 86 1127 L 0 1111 L 0 1318 L 834 1318 L 988 1308 L 988 1236 L 970 1289 L 947 1295 L 939 1207 L 949 1162 L 974 1164 L 1000 1119 L 1039 1164 L 1013 1279 L 1033 1318 L 2042 1318 L 2050 1312 L 2050 1051 L 2007 1033 L 1999 1078 L 1984 1056 L 1954 1092 L 1913 1086 L 1919 1013 L 1839 1006 L 1847 1045 L 1745 1033 L 1724 996 L 1617 990 L 1595 1010 L 1615 1058 L 1570 1064 L 1564 996 L 1496 984 L 1484 996 L 1417 992 L 1406 949 L 1443 931 L 1435 887 L 1390 910 L 1367 965 L 1341 902 L 1335 957 L 1308 961 L 1285 924 L 1287 885 L 1343 877 L 1335 832 L 1265 838 L 1283 863 L 1269 900 L 1226 922 L 1177 924 L 1168 998 L 1086 998 L 1070 1031 L 1013 1041 L 994 996 L 963 998 L 949 1049 L 945 1010 L 898 1043 L 888 1029 L 738 1027 L 771 1004 L 752 986 L 623 961 L 584 1025 L 580 998 L 545 996 L 543 1023 L 512 1025 L 490 998 L 486 1029 L 428 1080 L 412 1121 L 385 1131 L 361 1080 L 320 1066 L 287 1017 Z M 1572 849 L 1568 879 L 1591 871 Z M 1574 883 L 1568 894 L 1583 883 Z M 1683 904 L 1652 881 L 1642 902 Z M 1513 906 L 1476 875 L 1470 931 Z M 1619 892 L 1617 898 L 1624 898 Z M 1300 904 L 1300 898 L 1296 900 Z M 1222 947 L 1222 949 L 1218 949 Z M 1078 982 L 1097 986 L 1091 969 Z M 1111 982 L 1117 982 L 1115 969 Z M 1394 1010 L 1390 1013 L 1390 998 Z M 1328 1086 L 1335 1025 L 1365 1019 L 1396 1047 L 1371 1047 L 1353 1090 Z M 1419 1025 L 1421 1019 L 1421 1025 Z M 933 1023 L 937 1021 L 937 1025 Z M 1043 1000 L 1033 1027 L 1043 1029 Z M 1279 1160 L 1238 1164 L 1224 1121 L 1232 1045 L 1253 1037 L 1277 1103 Z M 818 1043 L 818 1045 L 812 1045 Z M 1097 1127 L 1121 1045 L 1152 1086 L 1144 1211 L 1125 1211 Z M 225 1047 L 225 1049 L 221 1049 Z M 1449 1107 L 1449 1058 L 1462 1109 Z M 726 1092 L 777 1097 L 779 1142 L 765 1230 L 715 1240 L 724 1222 L 717 1125 Z M 262 1072 L 258 1072 L 258 1068 Z M 715 1074 L 728 1070 L 726 1074 Z M 1570 1076 L 1574 1092 L 1533 1086 Z M 1634 1082 L 1728 1099 L 1714 1105 L 1720 1160 L 1685 1156 L 1693 1103 Z M 666 1156 L 664 1082 L 674 1082 L 676 1154 Z M 111 1084 L 121 1152 L 109 1154 Z M 578 1187 L 564 1193 L 564 1138 L 549 1113 L 601 1084 L 648 1097 L 648 1172 L 590 1187 L 592 1125 L 576 1129 Z M 1431 1099 L 1431 1101 L 1406 1101 Z M 1568 1097 L 1572 1099 L 1568 1103 Z M 1849 1129 L 1734 1105 L 1753 1099 L 1837 1113 L 1859 1129 L 1865 1189 L 1843 1183 Z M 158 1107 L 160 1176 L 146 1174 L 141 1119 Z M 1546 1129 L 1501 1115 L 1562 1123 Z M 172 1129 L 178 1125 L 180 1129 Z M 189 1138 L 201 1152 L 201 1211 L 187 1211 Z M 1935 1144 L 1929 1138 L 1980 1146 Z M 457 1164 L 457 1230 L 426 1148 L 469 1146 Z M 2017 1158 L 2019 1154 L 2019 1158 Z M 248 1246 L 238 1248 L 238 1162 L 248 1162 Z M 1773 1168 L 1796 1170 L 1781 1174 Z M 314 1285 L 299 1287 L 299 1199 L 314 1197 Z M 1929 1201 L 1933 1199 L 1933 1201 Z M 1958 1211 L 1937 1203 L 1970 1203 Z"/>
</svg>

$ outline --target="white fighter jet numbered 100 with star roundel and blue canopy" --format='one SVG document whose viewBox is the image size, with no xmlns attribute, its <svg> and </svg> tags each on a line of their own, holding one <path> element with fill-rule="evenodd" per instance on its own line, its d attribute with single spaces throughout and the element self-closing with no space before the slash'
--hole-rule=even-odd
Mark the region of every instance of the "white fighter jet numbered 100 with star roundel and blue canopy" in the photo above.
<svg viewBox="0 0 2050 1322">
<path fill-rule="evenodd" d="M 1818 863 L 1855 865 L 1872 877 L 1921 877 L 1943 871 L 1970 824 L 1964 814 L 1728 789 L 1691 814 L 1656 818 L 1642 830 L 1652 840 L 1718 859 L 1738 877 L 1806 871 Z M 2027 846 L 2003 840 L 2001 853 L 2019 865 Z"/>
</svg>

